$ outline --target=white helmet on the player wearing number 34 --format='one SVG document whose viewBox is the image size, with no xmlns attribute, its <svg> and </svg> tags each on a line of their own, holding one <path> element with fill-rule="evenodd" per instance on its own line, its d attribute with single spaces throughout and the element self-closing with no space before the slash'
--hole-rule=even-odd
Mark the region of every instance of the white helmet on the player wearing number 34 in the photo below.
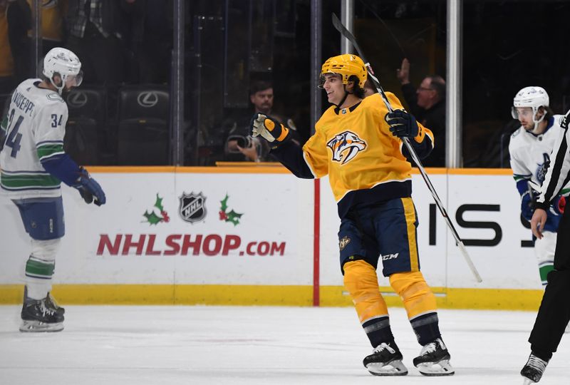
<svg viewBox="0 0 570 385">
<path fill-rule="evenodd" d="M 66 87 L 66 83 L 77 87 L 83 81 L 81 61 L 75 53 L 67 48 L 52 48 L 43 58 L 42 73 L 58 89 L 60 95 L 63 88 Z M 61 84 L 53 83 L 53 75 L 56 74 L 61 77 Z"/>
</svg>

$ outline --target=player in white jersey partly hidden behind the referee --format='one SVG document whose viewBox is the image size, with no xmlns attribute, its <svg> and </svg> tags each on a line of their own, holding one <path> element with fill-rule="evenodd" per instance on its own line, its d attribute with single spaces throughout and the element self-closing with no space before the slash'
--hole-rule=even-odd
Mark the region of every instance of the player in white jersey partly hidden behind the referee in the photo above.
<svg viewBox="0 0 570 385">
<path fill-rule="evenodd" d="M 518 119 L 521 127 L 514 131 L 509 143 L 511 168 L 517 190 L 521 195 L 521 213 L 524 219 L 531 220 L 534 212 L 534 199 L 544 181 L 550 163 L 550 153 L 561 128 L 563 115 L 554 115 L 549 108 L 549 97 L 544 88 L 525 87 L 514 96 L 512 116 Z M 569 192 L 563 188 L 549 207 L 548 220 L 544 227 L 544 237 L 534 242 L 534 255 L 539 264 L 539 274 L 543 286 L 546 277 L 553 269 L 556 230 L 564 212 Z"/>
</svg>

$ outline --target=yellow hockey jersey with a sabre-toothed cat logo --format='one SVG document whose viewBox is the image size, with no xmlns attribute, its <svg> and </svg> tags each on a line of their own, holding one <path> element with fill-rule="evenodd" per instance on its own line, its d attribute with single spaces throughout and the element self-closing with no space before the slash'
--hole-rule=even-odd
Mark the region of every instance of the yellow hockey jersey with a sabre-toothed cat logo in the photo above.
<svg viewBox="0 0 570 385">
<path fill-rule="evenodd" d="M 386 93 L 394 109 L 403 109 L 393 93 Z M 380 95 L 351 108 L 328 108 L 316 123 L 316 133 L 303 146 L 303 156 L 314 178 L 328 175 L 341 217 L 358 203 L 411 195 L 411 164 L 400 138 L 385 122 L 388 113 Z M 410 140 L 418 156 L 433 148 L 432 132 L 418 123 Z"/>
</svg>

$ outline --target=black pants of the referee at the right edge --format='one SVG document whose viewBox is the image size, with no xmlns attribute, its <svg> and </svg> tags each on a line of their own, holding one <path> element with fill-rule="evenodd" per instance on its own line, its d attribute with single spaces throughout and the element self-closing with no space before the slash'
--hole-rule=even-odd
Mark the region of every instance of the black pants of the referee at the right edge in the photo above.
<svg viewBox="0 0 570 385">
<path fill-rule="evenodd" d="M 554 270 L 548 274 L 548 284 L 529 337 L 532 351 L 546 360 L 558 348 L 570 321 L 570 207 L 568 209 L 558 227 Z"/>
</svg>

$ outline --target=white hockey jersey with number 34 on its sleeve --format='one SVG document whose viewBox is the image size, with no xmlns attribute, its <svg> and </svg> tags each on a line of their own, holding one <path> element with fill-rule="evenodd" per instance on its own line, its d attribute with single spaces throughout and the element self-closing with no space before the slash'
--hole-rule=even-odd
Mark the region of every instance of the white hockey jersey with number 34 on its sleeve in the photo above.
<svg viewBox="0 0 570 385">
<path fill-rule="evenodd" d="M 40 79 L 20 83 L 2 122 L 6 140 L 0 153 L 0 186 L 11 199 L 58 197 L 61 181 L 41 160 L 63 154 L 67 104 L 55 91 L 39 88 Z"/>
</svg>

